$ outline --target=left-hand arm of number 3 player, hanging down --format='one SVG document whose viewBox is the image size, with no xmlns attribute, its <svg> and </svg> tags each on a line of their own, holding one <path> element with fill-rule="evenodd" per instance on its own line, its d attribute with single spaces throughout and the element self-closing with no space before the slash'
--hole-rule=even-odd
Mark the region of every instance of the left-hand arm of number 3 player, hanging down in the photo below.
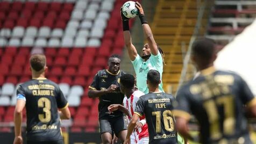
<svg viewBox="0 0 256 144">
<path fill-rule="evenodd" d="M 14 112 L 15 140 L 13 143 L 23 143 L 22 139 L 22 111 L 25 107 L 25 100 L 18 99 Z"/>
</svg>

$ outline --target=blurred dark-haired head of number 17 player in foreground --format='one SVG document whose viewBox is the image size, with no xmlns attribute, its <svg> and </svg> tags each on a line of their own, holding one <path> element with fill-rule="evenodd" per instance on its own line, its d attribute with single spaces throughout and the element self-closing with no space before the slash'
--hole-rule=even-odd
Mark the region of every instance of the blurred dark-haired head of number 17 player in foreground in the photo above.
<svg viewBox="0 0 256 144">
<path fill-rule="evenodd" d="M 198 69 L 201 70 L 213 65 L 217 57 L 215 45 L 214 40 L 207 38 L 194 42 L 191 59 L 195 62 Z"/>
</svg>

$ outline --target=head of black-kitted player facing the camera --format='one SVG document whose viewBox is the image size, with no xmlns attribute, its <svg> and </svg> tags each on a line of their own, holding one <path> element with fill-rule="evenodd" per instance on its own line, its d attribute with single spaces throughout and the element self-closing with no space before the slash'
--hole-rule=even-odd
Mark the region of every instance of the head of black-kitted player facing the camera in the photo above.
<svg viewBox="0 0 256 144">
<path fill-rule="evenodd" d="M 117 74 L 120 69 L 120 56 L 117 54 L 113 54 L 109 57 L 108 61 L 108 70 L 112 74 Z"/>
</svg>

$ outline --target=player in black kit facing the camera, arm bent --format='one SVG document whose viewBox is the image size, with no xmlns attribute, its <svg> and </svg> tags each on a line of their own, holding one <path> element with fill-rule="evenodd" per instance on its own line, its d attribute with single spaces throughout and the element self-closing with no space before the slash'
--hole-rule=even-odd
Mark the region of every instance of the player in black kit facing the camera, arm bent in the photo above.
<svg viewBox="0 0 256 144">
<path fill-rule="evenodd" d="M 98 119 L 103 143 L 111 143 L 113 134 L 120 141 L 125 140 L 127 122 L 123 112 L 117 110 L 110 113 L 108 106 L 122 104 L 124 94 L 120 91 L 120 77 L 124 74 L 120 69 L 120 57 L 112 55 L 108 61 L 108 69 L 99 70 L 89 86 L 88 96 L 99 98 Z"/>
</svg>

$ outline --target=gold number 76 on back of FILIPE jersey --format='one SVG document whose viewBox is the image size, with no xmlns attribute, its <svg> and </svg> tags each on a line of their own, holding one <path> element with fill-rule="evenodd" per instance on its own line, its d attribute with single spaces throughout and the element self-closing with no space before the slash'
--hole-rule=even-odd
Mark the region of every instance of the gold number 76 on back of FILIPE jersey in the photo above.
<svg viewBox="0 0 256 144">
<path fill-rule="evenodd" d="M 170 110 L 165 110 L 162 113 L 163 124 L 168 132 L 174 130 L 174 120 L 172 118 L 173 114 Z M 152 116 L 155 116 L 155 132 L 161 133 L 161 111 L 152 112 Z"/>
</svg>

